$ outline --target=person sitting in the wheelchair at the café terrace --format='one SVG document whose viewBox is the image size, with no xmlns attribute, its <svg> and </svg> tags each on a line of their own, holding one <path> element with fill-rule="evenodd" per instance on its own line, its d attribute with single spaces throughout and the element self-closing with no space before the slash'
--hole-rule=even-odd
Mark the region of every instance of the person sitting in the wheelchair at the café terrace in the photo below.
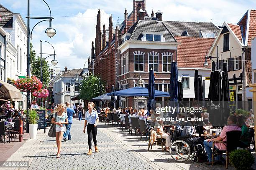
<svg viewBox="0 0 256 170">
<path fill-rule="evenodd" d="M 189 114 L 187 117 L 195 118 L 195 115 Z M 187 138 L 187 142 L 190 144 L 201 144 L 202 147 L 204 147 L 204 140 L 199 137 L 199 134 L 196 132 L 195 129 L 195 121 L 187 121 L 184 124 L 184 128 L 182 130 L 181 137 L 185 136 L 191 136 L 190 138 Z"/>
</svg>

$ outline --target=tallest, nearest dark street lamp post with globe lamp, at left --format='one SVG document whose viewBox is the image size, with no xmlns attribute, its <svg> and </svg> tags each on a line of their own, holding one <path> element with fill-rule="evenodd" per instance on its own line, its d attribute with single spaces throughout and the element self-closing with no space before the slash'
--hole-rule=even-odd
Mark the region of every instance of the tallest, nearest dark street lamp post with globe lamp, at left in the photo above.
<svg viewBox="0 0 256 170">
<path fill-rule="evenodd" d="M 42 0 L 45 2 L 45 0 Z M 36 27 L 36 25 L 38 25 L 41 22 L 44 21 L 49 21 L 49 28 L 46 29 L 45 33 L 47 36 L 49 37 L 53 37 L 56 34 L 56 30 L 54 28 L 51 27 L 51 21 L 54 19 L 51 17 L 51 9 L 49 7 L 49 5 L 46 3 L 47 7 L 49 8 L 50 11 L 50 17 L 31 17 L 30 16 L 30 0 L 27 1 L 28 2 L 28 16 L 27 18 L 27 76 L 30 77 L 31 76 L 31 72 L 30 72 L 30 38 L 32 39 L 32 32 L 33 29 Z M 36 25 L 32 28 L 31 32 L 30 32 L 30 19 L 41 19 L 40 22 L 36 23 Z M 27 91 L 27 112 L 29 110 L 30 107 L 30 91 Z M 28 119 L 27 119 L 28 120 Z M 27 122 L 27 127 L 26 127 L 26 133 L 29 133 L 29 129 L 28 129 L 28 122 Z"/>
</svg>

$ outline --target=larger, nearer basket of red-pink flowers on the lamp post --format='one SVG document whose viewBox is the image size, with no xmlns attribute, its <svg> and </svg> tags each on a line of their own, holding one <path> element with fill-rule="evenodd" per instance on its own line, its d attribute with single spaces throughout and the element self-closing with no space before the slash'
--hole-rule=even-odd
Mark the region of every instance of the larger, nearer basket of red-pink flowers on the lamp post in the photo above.
<svg viewBox="0 0 256 170">
<path fill-rule="evenodd" d="M 37 91 L 43 87 L 43 83 L 34 75 L 31 77 L 20 78 L 14 82 L 14 85 L 22 92 Z"/>
</svg>

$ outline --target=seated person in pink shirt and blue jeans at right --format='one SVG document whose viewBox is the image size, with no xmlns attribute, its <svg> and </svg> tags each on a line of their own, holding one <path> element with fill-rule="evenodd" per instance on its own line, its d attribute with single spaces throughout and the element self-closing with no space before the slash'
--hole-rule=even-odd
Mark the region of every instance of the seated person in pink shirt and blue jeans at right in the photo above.
<svg viewBox="0 0 256 170">
<path fill-rule="evenodd" d="M 207 165 L 211 165 L 211 163 L 212 163 L 212 143 L 213 143 L 213 141 L 214 140 L 227 141 L 227 132 L 233 131 L 233 130 L 241 131 L 241 128 L 236 124 L 237 119 L 236 119 L 235 115 L 230 115 L 228 117 L 227 122 L 228 122 L 228 125 L 223 128 L 219 137 L 214 138 L 214 139 L 207 139 L 204 141 L 205 150 L 206 150 L 207 157 L 208 157 L 208 162 L 205 163 Z M 227 146 L 225 145 L 225 143 L 215 143 L 214 147 L 219 150 L 227 149 Z M 222 155 L 218 155 L 217 161 L 221 161 L 221 158 L 222 158 Z"/>
</svg>

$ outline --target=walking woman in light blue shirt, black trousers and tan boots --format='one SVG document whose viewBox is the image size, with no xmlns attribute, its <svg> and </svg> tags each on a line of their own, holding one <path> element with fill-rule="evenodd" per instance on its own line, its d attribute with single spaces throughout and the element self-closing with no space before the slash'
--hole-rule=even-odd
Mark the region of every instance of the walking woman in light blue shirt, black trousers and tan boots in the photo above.
<svg viewBox="0 0 256 170">
<path fill-rule="evenodd" d="M 95 152 L 99 152 L 97 148 L 97 123 L 99 122 L 99 117 L 97 111 L 93 110 L 94 108 L 93 102 L 88 102 L 88 111 L 85 113 L 85 121 L 84 121 L 84 133 L 85 133 L 85 127 L 87 125 L 87 135 L 88 135 L 88 145 L 89 145 L 89 151 L 87 155 L 92 155 L 92 140 L 95 147 Z"/>
</svg>

